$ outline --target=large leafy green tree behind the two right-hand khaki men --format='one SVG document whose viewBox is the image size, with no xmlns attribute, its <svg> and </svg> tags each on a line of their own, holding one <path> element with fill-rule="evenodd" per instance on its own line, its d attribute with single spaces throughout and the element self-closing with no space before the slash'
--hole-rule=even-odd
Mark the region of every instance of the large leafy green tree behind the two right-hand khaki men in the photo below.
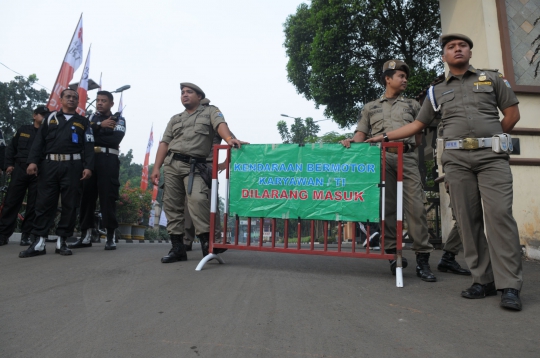
<svg viewBox="0 0 540 358">
<path fill-rule="evenodd" d="M 383 92 L 387 60 L 410 66 L 411 97 L 442 71 L 438 0 L 312 0 L 283 27 L 288 80 L 342 128 Z"/>
</svg>

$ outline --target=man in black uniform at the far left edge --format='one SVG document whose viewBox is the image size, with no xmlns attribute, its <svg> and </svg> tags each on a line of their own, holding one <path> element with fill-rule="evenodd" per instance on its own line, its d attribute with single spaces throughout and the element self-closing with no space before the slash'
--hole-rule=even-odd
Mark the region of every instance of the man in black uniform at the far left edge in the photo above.
<svg viewBox="0 0 540 358">
<path fill-rule="evenodd" d="M 13 234 L 17 225 L 17 214 L 28 190 L 26 211 L 21 227 L 21 246 L 29 246 L 32 243 L 30 241 L 30 231 L 36 217 L 34 206 L 37 196 L 37 178 L 35 175 L 26 174 L 28 167 L 26 160 L 39 126 L 48 114 L 47 107 L 37 107 L 33 115 L 34 123 L 21 126 L 6 149 L 6 173 L 11 175 L 11 181 L 4 201 L 4 208 L 0 215 L 0 242 L 7 242 Z"/>
</svg>

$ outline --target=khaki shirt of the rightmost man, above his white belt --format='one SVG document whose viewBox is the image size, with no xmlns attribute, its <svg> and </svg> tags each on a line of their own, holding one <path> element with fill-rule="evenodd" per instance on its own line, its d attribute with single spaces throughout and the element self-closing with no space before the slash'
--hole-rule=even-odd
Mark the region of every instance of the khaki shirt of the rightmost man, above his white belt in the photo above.
<svg viewBox="0 0 540 358">
<path fill-rule="evenodd" d="M 472 66 L 461 79 L 449 72 L 445 81 L 433 87 L 433 94 L 434 102 L 428 95 L 417 119 L 430 124 L 440 106 L 442 138 L 447 140 L 501 134 L 497 107 L 502 111 L 519 103 L 501 73 Z"/>
</svg>

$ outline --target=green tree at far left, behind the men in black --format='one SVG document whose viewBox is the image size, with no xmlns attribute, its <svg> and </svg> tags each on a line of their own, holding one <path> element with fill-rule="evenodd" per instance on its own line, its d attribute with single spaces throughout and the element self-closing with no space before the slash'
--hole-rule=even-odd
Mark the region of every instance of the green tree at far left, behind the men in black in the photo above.
<svg viewBox="0 0 540 358">
<path fill-rule="evenodd" d="M 32 87 L 38 81 L 35 74 L 28 78 L 15 76 L 10 82 L 0 82 L 0 130 L 11 139 L 24 124 L 32 124 L 34 108 L 46 103 L 49 93 Z"/>
</svg>

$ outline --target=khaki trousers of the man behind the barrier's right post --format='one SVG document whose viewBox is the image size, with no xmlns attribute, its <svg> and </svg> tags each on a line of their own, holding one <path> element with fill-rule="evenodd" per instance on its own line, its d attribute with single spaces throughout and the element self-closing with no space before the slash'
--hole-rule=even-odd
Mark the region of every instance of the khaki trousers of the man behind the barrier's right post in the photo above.
<svg viewBox="0 0 540 358">
<path fill-rule="evenodd" d="M 385 183 L 385 250 L 396 249 L 397 223 L 397 154 L 386 153 Z M 408 233 L 413 240 L 412 249 L 416 253 L 429 253 L 433 245 L 429 243 L 427 214 L 424 206 L 424 192 L 418 157 L 416 153 L 403 154 L 403 211 L 407 216 Z"/>
</svg>

